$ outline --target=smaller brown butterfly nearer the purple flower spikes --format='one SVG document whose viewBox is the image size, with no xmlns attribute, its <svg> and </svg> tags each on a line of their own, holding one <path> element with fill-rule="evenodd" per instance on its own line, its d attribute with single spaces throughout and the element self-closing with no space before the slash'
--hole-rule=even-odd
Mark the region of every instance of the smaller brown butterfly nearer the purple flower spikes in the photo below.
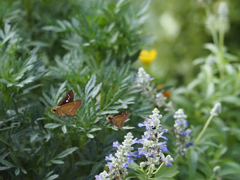
<svg viewBox="0 0 240 180">
<path fill-rule="evenodd" d="M 115 114 L 114 116 L 108 116 L 106 119 L 112 126 L 115 125 L 119 129 L 122 129 L 124 122 L 127 120 L 129 116 L 130 114 L 127 113 L 127 111 L 123 111 L 118 114 Z"/>
</svg>

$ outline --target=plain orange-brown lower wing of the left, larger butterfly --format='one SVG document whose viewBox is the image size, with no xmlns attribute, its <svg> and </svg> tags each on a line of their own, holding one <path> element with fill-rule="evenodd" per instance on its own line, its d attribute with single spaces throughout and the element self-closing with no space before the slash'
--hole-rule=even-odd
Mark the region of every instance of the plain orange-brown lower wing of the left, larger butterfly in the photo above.
<svg viewBox="0 0 240 180">
<path fill-rule="evenodd" d="M 81 106 L 82 100 L 73 101 L 61 106 L 62 112 L 69 117 L 75 117 L 78 108 Z"/>
</svg>

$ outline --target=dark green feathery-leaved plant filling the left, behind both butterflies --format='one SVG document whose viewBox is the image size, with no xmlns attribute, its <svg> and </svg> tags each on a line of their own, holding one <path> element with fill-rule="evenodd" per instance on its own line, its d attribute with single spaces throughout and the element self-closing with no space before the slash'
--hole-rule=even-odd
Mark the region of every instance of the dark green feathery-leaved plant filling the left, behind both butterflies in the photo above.
<svg viewBox="0 0 240 180">
<path fill-rule="evenodd" d="M 33 9 L 48 4 L 24 3 L 23 8 L 17 2 L 3 2 L 17 11 L 1 11 L 5 24 L 0 29 L 0 177 L 92 179 L 119 134 L 112 131 L 106 115 L 129 109 L 140 95 L 130 62 L 144 44 L 140 27 L 149 3 L 140 7 L 131 1 L 92 1 L 74 7 L 75 2 L 68 2 L 74 7 L 68 12 L 71 21 L 52 18 L 50 11 L 44 14 L 47 18 L 39 18 Z M 81 14 L 73 17 L 75 10 Z M 58 24 L 61 31 L 50 32 L 51 24 Z M 66 50 L 60 47 L 59 52 L 59 44 Z M 76 118 L 50 111 L 67 89 L 82 100 Z"/>
</svg>

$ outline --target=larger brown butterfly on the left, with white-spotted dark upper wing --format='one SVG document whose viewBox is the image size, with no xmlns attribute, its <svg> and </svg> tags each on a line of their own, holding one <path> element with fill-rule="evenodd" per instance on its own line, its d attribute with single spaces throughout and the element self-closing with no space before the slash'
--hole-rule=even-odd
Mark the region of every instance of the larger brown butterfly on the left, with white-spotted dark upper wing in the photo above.
<svg viewBox="0 0 240 180">
<path fill-rule="evenodd" d="M 53 113 L 63 116 L 75 117 L 78 108 L 81 106 L 82 100 L 74 101 L 73 90 L 70 90 L 57 107 L 51 109 Z"/>
</svg>

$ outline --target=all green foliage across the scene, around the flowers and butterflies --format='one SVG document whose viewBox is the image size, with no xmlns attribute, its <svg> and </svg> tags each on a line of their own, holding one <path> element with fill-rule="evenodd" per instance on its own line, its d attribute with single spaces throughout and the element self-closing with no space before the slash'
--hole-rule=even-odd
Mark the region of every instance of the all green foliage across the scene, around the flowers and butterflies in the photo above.
<svg viewBox="0 0 240 180">
<path fill-rule="evenodd" d="M 132 128 L 154 108 L 133 81 L 143 66 L 155 86 L 172 87 L 171 100 L 185 110 L 194 137 L 213 105 L 223 104 L 187 160 L 174 162 L 176 179 L 237 179 L 240 1 L 224 1 L 226 46 L 205 27 L 221 2 L 0 1 L 0 178 L 93 179 L 112 142 L 121 142 L 126 131 L 140 136 L 143 130 Z M 138 60 L 143 49 L 156 50 L 152 62 Z M 70 89 L 83 100 L 77 117 L 55 116 L 51 107 Z M 115 131 L 105 118 L 122 109 L 131 120 Z M 161 112 L 171 130 L 173 113 Z M 174 157 L 174 136 L 168 138 Z"/>
</svg>

